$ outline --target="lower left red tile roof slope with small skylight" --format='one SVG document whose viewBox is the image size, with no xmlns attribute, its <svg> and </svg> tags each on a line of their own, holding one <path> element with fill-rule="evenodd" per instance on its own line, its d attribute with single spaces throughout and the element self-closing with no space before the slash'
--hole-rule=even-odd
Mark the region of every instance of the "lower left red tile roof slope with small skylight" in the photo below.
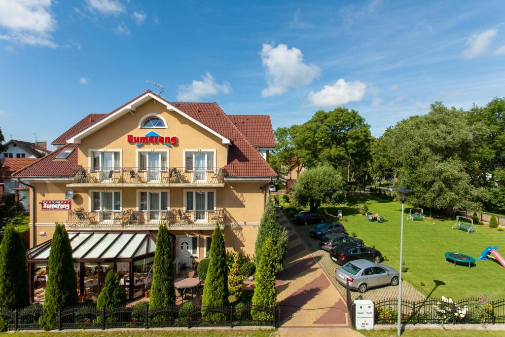
<svg viewBox="0 0 505 337">
<path fill-rule="evenodd" d="M 56 156 L 64 149 L 77 149 L 77 144 L 67 144 L 19 171 L 14 172 L 13 176 L 19 178 L 73 176 L 77 168 L 77 151 L 73 151 L 67 159 L 56 159 Z"/>
</svg>

